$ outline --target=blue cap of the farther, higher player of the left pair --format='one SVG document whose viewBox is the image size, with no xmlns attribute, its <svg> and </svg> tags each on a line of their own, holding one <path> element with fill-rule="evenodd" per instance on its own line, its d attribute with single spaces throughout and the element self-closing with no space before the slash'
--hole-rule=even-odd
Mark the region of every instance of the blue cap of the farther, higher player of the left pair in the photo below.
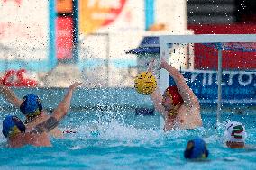
<svg viewBox="0 0 256 170">
<path fill-rule="evenodd" d="M 23 103 L 20 106 L 21 112 L 26 116 L 39 115 L 42 105 L 39 97 L 34 94 L 28 94 L 23 97 Z"/>
</svg>

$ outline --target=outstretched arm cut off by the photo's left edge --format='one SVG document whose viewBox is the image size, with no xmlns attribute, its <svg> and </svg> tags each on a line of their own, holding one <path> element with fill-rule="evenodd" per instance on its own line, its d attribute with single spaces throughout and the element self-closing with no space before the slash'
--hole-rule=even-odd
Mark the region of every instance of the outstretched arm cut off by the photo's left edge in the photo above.
<svg viewBox="0 0 256 170">
<path fill-rule="evenodd" d="M 12 103 L 16 107 L 20 107 L 20 105 L 23 103 L 23 100 L 19 99 L 14 94 L 14 91 L 5 85 L 0 84 L 0 92 L 4 95 L 5 100 L 7 100 L 9 103 Z"/>
</svg>

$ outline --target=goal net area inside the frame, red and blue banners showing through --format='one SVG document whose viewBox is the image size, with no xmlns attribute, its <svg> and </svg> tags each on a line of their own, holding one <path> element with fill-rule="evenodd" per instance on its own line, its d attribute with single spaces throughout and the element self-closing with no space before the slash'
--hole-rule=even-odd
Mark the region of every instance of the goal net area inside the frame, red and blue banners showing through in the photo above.
<svg viewBox="0 0 256 170">
<path fill-rule="evenodd" d="M 223 108 L 246 113 L 255 109 L 256 43 L 174 43 L 169 47 L 170 63 L 179 65 L 177 68 L 181 68 L 187 85 L 206 107 L 218 102 L 218 49 L 221 49 Z M 173 84 L 169 76 L 169 85 Z"/>
</svg>

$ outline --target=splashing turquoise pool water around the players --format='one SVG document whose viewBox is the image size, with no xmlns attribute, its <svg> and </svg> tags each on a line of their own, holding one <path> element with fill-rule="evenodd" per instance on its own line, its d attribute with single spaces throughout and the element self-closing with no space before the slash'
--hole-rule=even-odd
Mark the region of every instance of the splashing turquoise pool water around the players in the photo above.
<svg viewBox="0 0 256 170">
<path fill-rule="evenodd" d="M 3 120 L 7 112 L 0 112 Z M 18 114 L 22 117 L 21 114 Z M 256 148 L 224 147 L 224 124 L 215 130 L 215 115 L 202 114 L 196 130 L 160 130 L 159 114 L 135 115 L 133 110 L 69 112 L 61 130 L 76 130 L 64 139 L 51 139 L 50 148 L 7 148 L 0 135 L 0 169 L 256 169 Z M 222 120 L 245 124 L 247 144 L 256 139 L 255 116 L 224 113 Z M 2 126 L 1 129 L 2 131 Z M 208 161 L 187 161 L 187 141 L 202 137 L 210 151 Z"/>
</svg>

